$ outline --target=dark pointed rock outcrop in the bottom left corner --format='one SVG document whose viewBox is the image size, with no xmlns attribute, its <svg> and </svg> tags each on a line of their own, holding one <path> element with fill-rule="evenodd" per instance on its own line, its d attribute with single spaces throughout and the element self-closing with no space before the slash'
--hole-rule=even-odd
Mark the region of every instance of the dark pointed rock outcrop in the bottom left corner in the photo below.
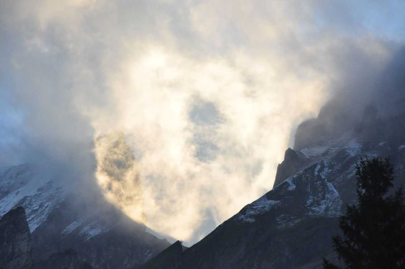
<svg viewBox="0 0 405 269">
<path fill-rule="evenodd" d="M 32 242 L 26 214 L 20 206 L 0 219 L 0 268 L 32 266 Z"/>
</svg>

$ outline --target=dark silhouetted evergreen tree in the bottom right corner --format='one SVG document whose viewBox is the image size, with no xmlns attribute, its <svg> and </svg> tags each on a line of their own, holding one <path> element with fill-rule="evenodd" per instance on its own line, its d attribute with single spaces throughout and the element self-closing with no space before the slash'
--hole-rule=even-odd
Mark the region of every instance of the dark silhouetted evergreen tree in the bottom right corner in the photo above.
<svg viewBox="0 0 405 269">
<path fill-rule="evenodd" d="M 357 205 L 339 219 L 343 237 L 333 247 L 347 269 L 405 268 L 405 205 L 402 187 L 393 195 L 389 159 L 361 160 L 356 166 Z M 324 269 L 340 269 L 324 259 Z"/>
</svg>

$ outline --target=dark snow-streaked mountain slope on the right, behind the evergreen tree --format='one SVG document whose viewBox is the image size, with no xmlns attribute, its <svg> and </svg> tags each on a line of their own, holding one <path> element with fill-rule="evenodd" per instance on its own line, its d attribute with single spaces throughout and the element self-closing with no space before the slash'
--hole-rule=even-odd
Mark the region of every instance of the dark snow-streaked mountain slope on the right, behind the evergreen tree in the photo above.
<svg viewBox="0 0 405 269">
<path fill-rule="evenodd" d="M 333 99 L 298 126 L 271 191 L 181 254 L 165 250 L 139 269 L 315 269 L 322 257 L 337 261 L 331 237 L 345 205 L 356 202 L 359 160 L 390 156 L 395 187 L 405 184 L 405 68 L 394 76 L 392 66 L 373 97 Z"/>
</svg>

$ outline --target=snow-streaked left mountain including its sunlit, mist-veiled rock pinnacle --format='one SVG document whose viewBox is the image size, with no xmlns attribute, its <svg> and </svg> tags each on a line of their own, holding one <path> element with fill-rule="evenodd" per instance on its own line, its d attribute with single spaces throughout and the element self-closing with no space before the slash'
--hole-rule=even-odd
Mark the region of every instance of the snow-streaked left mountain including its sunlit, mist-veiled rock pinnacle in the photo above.
<svg viewBox="0 0 405 269">
<path fill-rule="evenodd" d="M 137 164 L 125 137 L 113 134 L 98 139 L 95 144 L 104 150 L 96 164 L 98 172 L 110 183 L 122 180 L 128 185 L 133 181 L 132 187 L 139 189 L 130 198 L 139 201 L 134 206 L 145 220 L 145 214 L 139 209 L 143 200 L 137 198 L 142 192 Z M 117 152 L 121 154 L 114 159 Z M 165 239 L 147 233 L 144 224 L 133 221 L 121 208 L 113 206 L 96 182 L 83 182 L 81 189 L 74 182 L 74 179 L 65 182 L 57 173 L 48 174 L 31 164 L 0 171 L 0 216 L 7 219 L 9 210 L 21 206 L 25 209 L 28 225 L 24 232 L 32 240 L 30 251 L 35 265 L 52 267 L 55 266 L 52 261 L 59 260 L 72 266 L 87 263 L 94 269 L 132 268 L 170 245 Z M 66 252 L 67 249 L 71 251 Z"/>
</svg>

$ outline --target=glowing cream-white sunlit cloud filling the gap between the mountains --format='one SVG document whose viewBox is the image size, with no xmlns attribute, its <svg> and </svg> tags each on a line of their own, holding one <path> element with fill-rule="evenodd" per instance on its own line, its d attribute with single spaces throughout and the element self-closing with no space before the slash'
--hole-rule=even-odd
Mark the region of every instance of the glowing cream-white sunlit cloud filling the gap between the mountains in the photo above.
<svg viewBox="0 0 405 269">
<path fill-rule="evenodd" d="M 240 51 L 201 60 L 155 47 L 112 78 L 116 114 L 98 111 L 93 126 L 126 132 L 140 156 L 147 225 L 183 240 L 200 237 L 193 233 L 207 208 L 218 225 L 271 189 L 293 120 L 314 116 L 325 100 L 322 80 L 280 74 Z M 193 121 L 199 102 L 212 104 L 220 120 Z M 196 148 L 207 145 L 214 158 L 204 161 Z"/>
</svg>

